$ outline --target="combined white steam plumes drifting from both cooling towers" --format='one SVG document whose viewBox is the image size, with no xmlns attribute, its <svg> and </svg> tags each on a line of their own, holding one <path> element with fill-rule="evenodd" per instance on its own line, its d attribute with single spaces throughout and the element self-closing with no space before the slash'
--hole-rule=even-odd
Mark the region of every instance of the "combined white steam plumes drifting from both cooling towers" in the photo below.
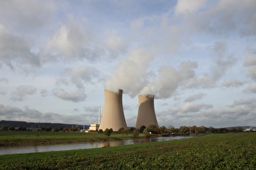
<svg viewBox="0 0 256 170">
<path fill-rule="evenodd" d="M 167 99 L 184 80 L 195 76 L 197 62 L 182 62 L 177 70 L 171 66 L 160 66 L 157 77 L 152 81 L 149 66 L 153 59 L 153 51 L 132 49 L 128 57 L 119 62 L 110 79 L 107 79 L 105 88 L 114 92 L 123 89 L 132 97 L 141 93 Z"/>
</svg>

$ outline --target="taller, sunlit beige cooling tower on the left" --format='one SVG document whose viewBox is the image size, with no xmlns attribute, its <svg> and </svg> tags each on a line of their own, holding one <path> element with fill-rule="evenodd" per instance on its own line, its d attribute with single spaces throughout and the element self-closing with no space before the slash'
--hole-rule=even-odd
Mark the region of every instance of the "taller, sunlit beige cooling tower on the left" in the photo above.
<svg viewBox="0 0 256 170">
<path fill-rule="evenodd" d="M 122 102 L 123 91 L 119 89 L 117 93 L 105 90 L 105 103 L 102 113 L 102 121 L 99 130 L 127 128 L 124 119 L 124 109 Z"/>
</svg>

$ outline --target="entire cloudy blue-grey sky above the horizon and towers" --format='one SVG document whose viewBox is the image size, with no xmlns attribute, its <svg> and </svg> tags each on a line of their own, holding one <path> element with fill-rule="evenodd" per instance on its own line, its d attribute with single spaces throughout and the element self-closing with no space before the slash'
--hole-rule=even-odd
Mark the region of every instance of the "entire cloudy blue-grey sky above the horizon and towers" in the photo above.
<svg viewBox="0 0 256 170">
<path fill-rule="evenodd" d="M 97 123 L 104 89 L 159 125 L 256 125 L 256 1 L 0 0 L 0 120 Z"/>
</svg>

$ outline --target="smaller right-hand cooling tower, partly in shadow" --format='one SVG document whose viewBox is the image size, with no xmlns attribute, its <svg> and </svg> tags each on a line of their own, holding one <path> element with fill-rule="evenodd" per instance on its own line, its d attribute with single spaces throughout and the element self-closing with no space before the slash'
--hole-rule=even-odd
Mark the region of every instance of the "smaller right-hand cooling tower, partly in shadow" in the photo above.
<svg viewBox="0 0 256 170">
<path fill-rule="evenodd" d="M 136 129 L 141 125 L 157 125 L 158 121 L 154 113 L 154 95 L 139 95 L 139 108 L 137 115 Z"/>
</svg>

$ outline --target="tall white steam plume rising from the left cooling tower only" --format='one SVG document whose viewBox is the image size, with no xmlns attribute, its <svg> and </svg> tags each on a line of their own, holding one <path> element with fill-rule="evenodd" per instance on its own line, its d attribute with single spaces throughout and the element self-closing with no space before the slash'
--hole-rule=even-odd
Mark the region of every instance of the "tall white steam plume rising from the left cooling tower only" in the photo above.
<svg viewBox="0 0 256 170">
<path fill-rule="evenodd" d="M 105 88 L 109 91 L 123 89 L 130 96 L 136 96 L 144 87 L 147 69 L 154 58 L 154 52 L 143 48 L 132 49 L 128 57 L 120 60 L 114 73 L 106 80 Z"/>
</svg>

